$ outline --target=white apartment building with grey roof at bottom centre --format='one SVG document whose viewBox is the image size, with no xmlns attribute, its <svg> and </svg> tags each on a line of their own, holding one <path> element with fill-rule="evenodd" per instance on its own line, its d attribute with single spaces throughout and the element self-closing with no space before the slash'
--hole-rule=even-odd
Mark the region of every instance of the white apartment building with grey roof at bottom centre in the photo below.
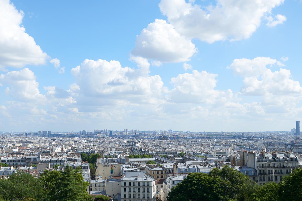
<svg viewBox="0 0 302 201">
<path fill-rule="evenodd" d="M 152 177 L 123 177 L 121 201 L 155 201 L 156 184 Z"/>
</svg>

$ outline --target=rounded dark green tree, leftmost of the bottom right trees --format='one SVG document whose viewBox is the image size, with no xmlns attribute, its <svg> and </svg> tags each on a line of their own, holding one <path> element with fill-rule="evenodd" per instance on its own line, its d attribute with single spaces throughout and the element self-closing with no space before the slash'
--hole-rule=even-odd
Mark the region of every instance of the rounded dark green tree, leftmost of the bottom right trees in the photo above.
<svg viewBox="0 0 302 201">
<path fill-rule="evenodd" d="M 220 177 L 210 177 L 205 173 L 189 173 L 188 177 L 178 183 L 169 192 L 168 201 L 182 200 L 222 200 L 224 196 L 223 181 Z"/>
</svg>

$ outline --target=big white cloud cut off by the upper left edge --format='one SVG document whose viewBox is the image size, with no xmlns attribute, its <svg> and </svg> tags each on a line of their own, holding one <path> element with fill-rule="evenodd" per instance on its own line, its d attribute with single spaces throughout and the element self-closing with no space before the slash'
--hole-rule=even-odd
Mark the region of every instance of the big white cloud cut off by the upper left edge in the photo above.
<svg viewBox="0 0 302 201">
<path fill-rule="evenodd" d="M 0 70 L 46 63 L 47 54 L 21 25 L 23 16 L 9 0 L 0 0 Z"/>
</svg>

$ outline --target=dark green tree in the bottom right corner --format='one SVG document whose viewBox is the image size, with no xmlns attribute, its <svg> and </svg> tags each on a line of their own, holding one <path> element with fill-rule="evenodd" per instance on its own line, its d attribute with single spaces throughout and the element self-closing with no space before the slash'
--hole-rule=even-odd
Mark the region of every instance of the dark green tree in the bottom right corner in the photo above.
<svg viewBox="0 0 302 201">
<path fill-rule="evenodd" d="M 302 168 L 297 168 L 279 182 L 280 200 L 302 200 Z"/>
</svg>

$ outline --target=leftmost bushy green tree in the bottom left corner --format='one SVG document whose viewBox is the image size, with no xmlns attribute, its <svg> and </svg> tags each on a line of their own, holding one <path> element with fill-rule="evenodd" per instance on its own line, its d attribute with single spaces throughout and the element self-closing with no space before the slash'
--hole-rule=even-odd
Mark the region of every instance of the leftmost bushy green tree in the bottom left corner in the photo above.
<svg viewBox="0 0 302 201">
<path fill-rule="evenodd" d="M 43 200 L 44 193 L 40 180 L 30 174 L 18 172 L 7 180 L 0 180 L 0 194 L 8 200 Z"/>
</svg>

